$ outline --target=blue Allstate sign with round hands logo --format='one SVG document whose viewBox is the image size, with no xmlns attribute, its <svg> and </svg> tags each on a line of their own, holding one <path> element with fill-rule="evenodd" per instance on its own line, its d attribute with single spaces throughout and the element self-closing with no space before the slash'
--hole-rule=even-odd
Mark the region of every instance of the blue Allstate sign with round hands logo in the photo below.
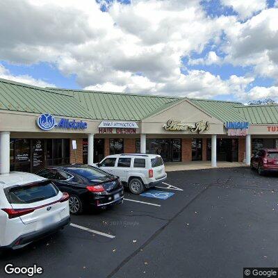
<svg viewBox="0 0 278 278">
<path fill-rule="evenodd" d="M 62 118 L 56 122 L 51 114 L 42 114 L 38 117 L 37 124 L 40 129 L 49 131 L 56 127 L 57 129 L 87 129 L 87 122 L 69 120 Z"/>
</svg>

